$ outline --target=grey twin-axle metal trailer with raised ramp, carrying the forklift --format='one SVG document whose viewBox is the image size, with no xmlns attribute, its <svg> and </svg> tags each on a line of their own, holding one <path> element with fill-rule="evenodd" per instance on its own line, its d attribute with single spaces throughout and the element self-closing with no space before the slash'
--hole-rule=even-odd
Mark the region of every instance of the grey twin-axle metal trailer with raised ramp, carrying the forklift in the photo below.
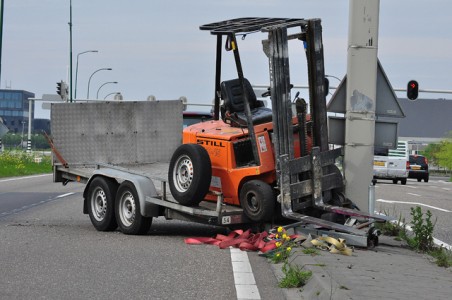
<svg viewBox="0 0 452 300">
<path fill-rule="evenodd" d="M 246 223 L 243 209 L 217 201 L 184 206 L 167 188 L 169 159 L 182 142 L 180 100 L 53 103 L 53 180 L 85 184 L 83 212 L 97 230 L 148 231 L 164 216 L 212 225 Z"/>
</svg>

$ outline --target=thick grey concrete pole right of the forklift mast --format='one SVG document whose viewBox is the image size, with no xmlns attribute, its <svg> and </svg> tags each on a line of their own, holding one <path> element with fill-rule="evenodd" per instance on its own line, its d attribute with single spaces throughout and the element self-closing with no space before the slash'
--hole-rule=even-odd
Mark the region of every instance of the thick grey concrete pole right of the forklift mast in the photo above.
<svg viewBox="0 0 452 300">
<path fill-rule="evenodd" d="M 344 176 L 346 195 L 369 210 L 373 177 L 379 0 L 350 0 Z"/>
</svg>

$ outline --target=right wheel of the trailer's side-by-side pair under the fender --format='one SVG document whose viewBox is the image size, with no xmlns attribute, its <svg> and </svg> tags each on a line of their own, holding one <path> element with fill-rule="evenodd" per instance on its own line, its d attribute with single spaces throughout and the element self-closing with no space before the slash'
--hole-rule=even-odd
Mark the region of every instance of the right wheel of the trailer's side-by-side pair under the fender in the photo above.
<svg viewBox="0 0 452 300">
<path fill-rule="evenodd" d="M 151 217 L 144 217 L 140 212 L 140 201 L 135 186 L 124 181 L 116 194 L 116 218 L 119 229 L 124 234 L 145 234 L 152 224 Z"/>
</svg>

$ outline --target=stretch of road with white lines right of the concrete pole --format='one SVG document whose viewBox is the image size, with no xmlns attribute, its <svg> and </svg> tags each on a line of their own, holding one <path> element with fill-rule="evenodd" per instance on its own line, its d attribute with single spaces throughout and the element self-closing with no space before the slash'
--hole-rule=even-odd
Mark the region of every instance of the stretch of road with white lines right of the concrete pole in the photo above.
<svg viewBox="0 0 452 300">
<path fill-rule="evenodd" d="M 452 182 L 448 178 L 430 177 L 427 183 L 408 179 L 406 185 L 379 180 L 375 198 L 377 211 L 405 219 L 406 224 L 412 220 L 411 207 L 420 206 L 424 217 L 430 210 L 432 221 L 436 220 L 434 237 L 452 245 Z"/>
</svg>

